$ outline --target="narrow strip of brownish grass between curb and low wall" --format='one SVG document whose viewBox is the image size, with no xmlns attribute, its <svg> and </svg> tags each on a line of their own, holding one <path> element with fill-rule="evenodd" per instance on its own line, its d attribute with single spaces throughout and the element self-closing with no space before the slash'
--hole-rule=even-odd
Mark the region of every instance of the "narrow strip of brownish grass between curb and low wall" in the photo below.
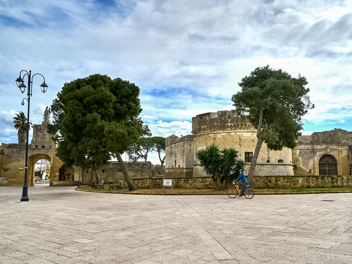
<svg viewBox="0 0 352 264">
<path fill-rule="evenodd" d="M 128 189 L 122 188 L 113 190 L 109 188 L 105 189 L 93 189 L 86 185 L 81 185 L 82 190 L 102 191 L 109 193 L 141 193 L 141 194 L 226 194 L 226 190 L 214 190 L 214 189 L 186 189 L 186 188 L 150 188 L 150 189 L 138 189 L 136 191 L 128 191 Z M 312 193 L 312 192 L 339 192 L 339 191 L 352 191 L 352 187 L 336 187 L 336 188 L 294 188 L 294 189 L 254 189 L 254 194 L 280 194 L 280 193 Z"/>
</svg>

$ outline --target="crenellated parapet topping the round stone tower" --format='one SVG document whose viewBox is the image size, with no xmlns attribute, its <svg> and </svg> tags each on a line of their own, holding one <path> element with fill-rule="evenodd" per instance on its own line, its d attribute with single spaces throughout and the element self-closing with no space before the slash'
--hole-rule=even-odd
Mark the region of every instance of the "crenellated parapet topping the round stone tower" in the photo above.
<svg viewBox="0 0 352 264">
<path fill-rule="evenodd" d="M 192 134 L 225 132 L 225 131 L 255 131 L 253 125 L 241 117 L 236 110 L 204 113 L 192 118 Z"/>
</svg>

